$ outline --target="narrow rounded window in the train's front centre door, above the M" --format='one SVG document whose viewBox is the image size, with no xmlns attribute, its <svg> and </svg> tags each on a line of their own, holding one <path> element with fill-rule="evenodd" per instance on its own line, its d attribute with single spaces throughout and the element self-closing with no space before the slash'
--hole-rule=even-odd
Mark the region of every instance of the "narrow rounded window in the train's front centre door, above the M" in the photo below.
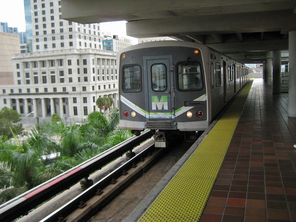
<svg viewBox="0 0 296 222">
<path fill-rule="evenodd" d="M 164 64 L 153 64 L 151 66 L 151 81 L 154 91 L 165 91 L 167 88 L 166 66 Z"/>
</svg>

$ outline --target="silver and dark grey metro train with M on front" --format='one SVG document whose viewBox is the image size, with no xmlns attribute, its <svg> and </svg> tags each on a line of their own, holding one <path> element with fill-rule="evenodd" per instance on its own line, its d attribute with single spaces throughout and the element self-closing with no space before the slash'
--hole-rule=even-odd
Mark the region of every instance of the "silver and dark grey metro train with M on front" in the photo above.
<svg viewBox="0 0 296 222">
<path fill-rule="evenodd" d="M 246 65 L 208 46 L 153 41 L 122 49 L 119 125 L 139 135 L 151 129 L 155 147 L 176 133 L 194 141 L 250 79 Z"/>
</svg>

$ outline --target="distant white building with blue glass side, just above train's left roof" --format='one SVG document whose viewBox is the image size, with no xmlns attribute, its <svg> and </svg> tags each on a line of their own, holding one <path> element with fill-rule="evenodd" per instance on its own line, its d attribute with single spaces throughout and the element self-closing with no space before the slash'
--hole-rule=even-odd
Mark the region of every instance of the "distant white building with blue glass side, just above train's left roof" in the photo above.
<svg viewBox="0 0 296 222">
<path fill-rule="evenodd" d="M 118 52 L 128 46 L 132 46 L 131 39 L 126 37 L 118 38 L 118 35 L 114 35 L 113 38 L 110 36 L 104 36 L 103 49 L 113 52 Z"/>
</svg>

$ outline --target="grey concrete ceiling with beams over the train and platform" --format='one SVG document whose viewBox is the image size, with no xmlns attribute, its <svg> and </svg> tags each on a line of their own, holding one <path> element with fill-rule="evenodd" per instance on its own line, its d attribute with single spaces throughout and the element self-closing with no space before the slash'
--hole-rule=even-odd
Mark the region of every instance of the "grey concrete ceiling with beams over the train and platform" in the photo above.
<svg viewBox="0 0 296 222">
<path fill-rule="evenodd" d="M 62 16 L 85 24 L 126 20 L 128 36 L 197 42 L 247 63 L 264 58 L 245 53 L 288 50 L 296 0 L 62 0 Z"/>
</svg>

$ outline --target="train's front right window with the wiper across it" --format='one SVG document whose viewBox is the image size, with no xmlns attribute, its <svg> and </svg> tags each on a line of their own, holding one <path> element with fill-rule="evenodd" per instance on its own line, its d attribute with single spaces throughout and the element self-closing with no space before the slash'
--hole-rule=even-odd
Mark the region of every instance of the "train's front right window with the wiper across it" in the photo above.
<svg viewBox="0 0 296 222">
<path fill-rule="evenodd" d="M 203 88 L 200 62 L 180 62 L 177 64 L 178 89 L 181 91 L 199 91 Z"/>
</svg>

